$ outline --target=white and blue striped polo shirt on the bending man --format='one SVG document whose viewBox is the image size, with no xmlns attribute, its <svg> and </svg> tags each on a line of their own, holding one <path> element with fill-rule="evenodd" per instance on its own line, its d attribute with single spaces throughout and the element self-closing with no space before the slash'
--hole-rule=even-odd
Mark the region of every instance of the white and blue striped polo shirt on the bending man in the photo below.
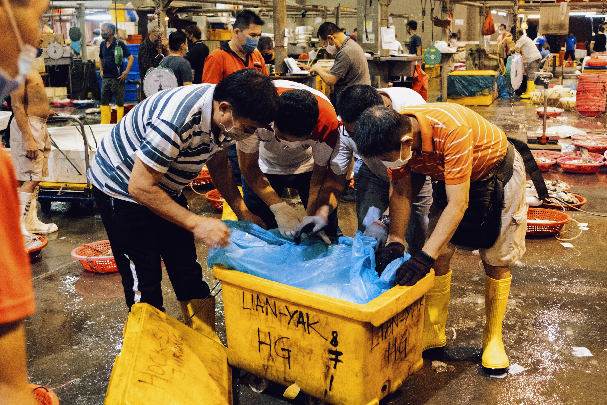
<svg viewBox="0 0 607 405">
<path fill-rule="evenodd" d="M 206 161 L 235 143 L 211 132 L 214 84 L 194 84 L 156 93 L 140 102 L 107 134 L 87 172 L 109 196 L 137 202 L 129 194 L 135 158 L 164 173 L 158 183 L 176 196 Z"/>
</svg>

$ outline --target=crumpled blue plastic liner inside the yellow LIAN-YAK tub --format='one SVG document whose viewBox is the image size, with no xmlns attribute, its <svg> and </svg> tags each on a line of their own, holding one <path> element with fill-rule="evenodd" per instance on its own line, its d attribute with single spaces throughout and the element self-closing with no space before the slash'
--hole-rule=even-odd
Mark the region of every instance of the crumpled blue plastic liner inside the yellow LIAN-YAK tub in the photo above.
<svg viewBox="0 0 607 405">
<path fill-rule="evenodd" d="M 287 284 L 355 304 L 366 304 L 392 288 L 396 270 L 411 256 L 390 263 L 381 277 L 375 271 L 376 241 L 356 231 L 350 238 L 331 238 L 327 245 L 316 237 L 299 245 L 278 229 L 265 230 L 249 221 L 223 221 L 232 231 L 231 244 L 209 249 L 207 266 L 228 269 Z"/>
</svg>

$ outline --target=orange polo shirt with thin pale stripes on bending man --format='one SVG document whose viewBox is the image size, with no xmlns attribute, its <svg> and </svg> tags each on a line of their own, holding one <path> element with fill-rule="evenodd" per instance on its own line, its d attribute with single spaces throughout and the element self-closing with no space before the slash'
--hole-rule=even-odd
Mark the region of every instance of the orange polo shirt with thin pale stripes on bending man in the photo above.
<svg viewBox="0 0 607 405">
<path fill-rule="evenodd" d="M 402 169 L 388 170 L 392 179 L 410 168 L 449 185 L 473 182 L 484 178 L 506 154 L 506 134 L 463 105 L 433 102 L 399 113 L 419 122 L 422 150 L 413 150 Z"/>
</svg>

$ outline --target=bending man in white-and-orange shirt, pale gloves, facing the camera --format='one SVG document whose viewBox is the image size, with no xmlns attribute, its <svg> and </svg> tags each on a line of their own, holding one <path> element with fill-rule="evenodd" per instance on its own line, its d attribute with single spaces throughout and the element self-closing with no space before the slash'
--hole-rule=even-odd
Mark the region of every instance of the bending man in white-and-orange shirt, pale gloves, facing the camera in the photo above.
<svg viewBox="0 0 607 405">
<path fill-rule="evenodd" d="M 306 207 L 305 223 L 317 227 L 316 232 L 326 227 L 328 235 L 342 236 L 337 226 L 337 184 L 344 183 L 347 167 L 344 175 L 327 169 L 339 126 L 333 105 L 306 85 L 289 80 L 274 84 L 282 101 L 276 119 L 237 144 L 245 204 L 268 229 L 277 227 L 286 238 L 294 238 L 302 218 L 281 198 L 284 188 L 290 187 Z M 324 232 L 320 236 L 330 243 Z"/>
</svg>

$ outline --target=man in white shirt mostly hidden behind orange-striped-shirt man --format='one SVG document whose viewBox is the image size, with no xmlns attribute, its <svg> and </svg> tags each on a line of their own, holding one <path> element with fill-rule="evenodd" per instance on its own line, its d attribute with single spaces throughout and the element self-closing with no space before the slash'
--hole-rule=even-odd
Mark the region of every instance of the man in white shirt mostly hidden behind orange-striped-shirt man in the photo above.
<svg viewBox="0 0 607 405">
<path fill-rule="evenodd" d="M 426 104 L 426 101 L 414 90 L 405 87 L 388 87 L 374 89 L 370 85 L 357 84 L 347 87 L 337 99 L 337 111 L 340 113 L 342 126 L 339 128 L 339 151 L 331 158 L 332 167 L 344 167 L 354 156 L 354 190 L 356 195 L 356 215 L 358 229 L 365 236 L 375 238 L 378 243 L 375 249 L 384 247 L 390 228 L 390 179 L 385 165 L 379 158 L 362 158 L 358 155 L 356 144 L 352 139 L 354 126 L 361 113 L 375 105 L 384 105 L 396 111 L 411 105 Z M 432 205 L 432 185 L 426 178 L 424 187 L 413 201 L 411 220 L 405 240 L 411 255 L 423 247 L 419 240 L 426 235 L 428 214 Z M 419 236 L 419 238 L 416 238 Z"/>
</svg>

